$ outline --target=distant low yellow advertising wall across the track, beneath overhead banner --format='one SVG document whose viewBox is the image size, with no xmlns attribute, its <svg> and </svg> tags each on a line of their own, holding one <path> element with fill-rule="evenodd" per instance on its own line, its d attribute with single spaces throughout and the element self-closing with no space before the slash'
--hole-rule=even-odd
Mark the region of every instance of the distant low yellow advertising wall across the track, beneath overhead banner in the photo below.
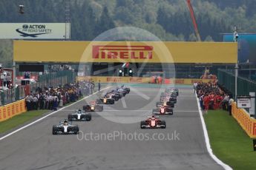
<svg viewBox="0 0 256 170">
<path fill-rule="evenodd" d="M 140 77 L 107 77 L 107 76 L 78 76 L 76 81 L 92 80 L 95 83 L 131 83 L 131 84 L 155 84 L 154 78 L 140 78 Z M 191 79 L 191 78 L 168 78 L 162 81 L 162 84 L 186 84 L 191 85 L 194 82 L 203 81 L 208 83 L 209 79 Z"/>
</svg>

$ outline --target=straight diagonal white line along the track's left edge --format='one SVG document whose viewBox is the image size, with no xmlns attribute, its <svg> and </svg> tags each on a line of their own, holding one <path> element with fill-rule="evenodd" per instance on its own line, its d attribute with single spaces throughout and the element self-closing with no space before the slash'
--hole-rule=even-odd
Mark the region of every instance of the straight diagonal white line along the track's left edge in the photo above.
<svg viewBox="0 0 256 170">
<path fill-rule="evenodd" d="M 105 87 L 104 89 L 108 89 L 108 88 L 110 88 L 110 86 Z M 102 90 L 104 90 L 104 89 L 101 89 L 101 90 L 99 90 L 98 92 L 100 92 L 100 91 L 102 91 Z M 94 92 L 92 95 L 95 95 L 95 94 L 98 93 L 98 92 Z M 85 98 L 89 98 L 89 97 L 91 97 L 92 95 L 88 95 L 88 96 L 86 96 Z M 80 99 L 79 101 L 85 100 L 85 98 L 82 98 L 82 99 Z M 68 106 L 62 107 L 62 109 L 65 109 L 65 108 L 67 108 L 67 107 L 69 107 L 69 106 L 72 106 L 73 104 L 75 104 L 75 103 L 77 103 L 77 102 L 79 102 L 79 101 L 76 101 L 76 102 L 74 102 L 74 103 L 71 103 L 71 104 L 68 105 Z M 57 111 L 55 111 L 55 112 L 51 112 L 50 114 L 45 115 L 45 116 L 42 117 L 42 118 L 39 118 L 39 119 L 37 119 L 37 120 L 35 120 L 35 121 L 33 121 L 33 122 L 31 122 L 31 123 L 25 125 L 25 126 L 22 126 L 21 128 L 15 130 L 15 131 L 13 131 L 13 132 L 10 132 L 9 134 L 4 135 L 3 137 L 1 137 L 0 140 L 3 140 L 4 138 L 9 137 L 10 135 L 13 135 L 13 134 L 15 134 L 16 132 L 21 131 L 22 129 L 25 129 L 25 128 L 27 128 L 28 126 L 31 126 L 31 125 L 33 125 L 34 123 L 37 123 L 37 122 L 39 122 L 39 121 L 41 121 L 41 120 L 43 120 L 43 119 L 49 117 L 50 115 L 53 115 L 53 114 L 55 114 L 56 112 L 61 111 L 62 109 L 59 109 L 59 110 L 57 110 Z"/>
</svg>

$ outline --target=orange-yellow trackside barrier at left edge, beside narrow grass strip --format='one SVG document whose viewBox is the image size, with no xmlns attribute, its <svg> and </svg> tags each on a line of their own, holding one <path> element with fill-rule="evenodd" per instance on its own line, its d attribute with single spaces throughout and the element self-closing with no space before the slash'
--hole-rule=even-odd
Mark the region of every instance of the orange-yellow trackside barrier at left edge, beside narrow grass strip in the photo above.
<svg viewBox="0 0 256 170">
<path fill-rule="evenodd" d="M 16 101 L 4 106 L 0 106 L 0 122 L 13 118 L 13 116 L 27 112 L 25 100 Z"/>
</svg>

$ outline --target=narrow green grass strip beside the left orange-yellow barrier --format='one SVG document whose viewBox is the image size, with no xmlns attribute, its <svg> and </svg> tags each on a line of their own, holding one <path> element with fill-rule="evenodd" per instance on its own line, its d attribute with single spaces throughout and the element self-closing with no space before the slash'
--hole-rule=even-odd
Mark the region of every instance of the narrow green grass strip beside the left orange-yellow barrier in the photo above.
<svg viewBox="0 0 256 170">
<path fill-rule="evenodd" d="M 32 110 L 0 122 L 0 134 L 7 132 L 8 130 L 13 129 L 23 123 L 26 123 L 27 121 L 32 120 L 33 118 L 36 118 L 45 112 L 49 112 L 49 110 Z"/>
</svg>

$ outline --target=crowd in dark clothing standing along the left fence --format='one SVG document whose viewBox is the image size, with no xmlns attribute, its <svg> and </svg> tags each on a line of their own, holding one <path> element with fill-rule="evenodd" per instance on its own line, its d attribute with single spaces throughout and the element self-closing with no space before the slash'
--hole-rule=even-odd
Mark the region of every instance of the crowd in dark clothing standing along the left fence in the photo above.
<svg viewBox="0 0 256 170">
<path fill-rule="evenodd" d="M 26 96 L 25 102 L 27 110 L 49 109 L 56 110 L 58 106 L 79 100 L 83 95 L 93 93 L 93 81 L 79 81 L 76 84 L 65 84 L 64 86 L 38 87 L 36 91 L 30 92 Z"/>
</svg>

